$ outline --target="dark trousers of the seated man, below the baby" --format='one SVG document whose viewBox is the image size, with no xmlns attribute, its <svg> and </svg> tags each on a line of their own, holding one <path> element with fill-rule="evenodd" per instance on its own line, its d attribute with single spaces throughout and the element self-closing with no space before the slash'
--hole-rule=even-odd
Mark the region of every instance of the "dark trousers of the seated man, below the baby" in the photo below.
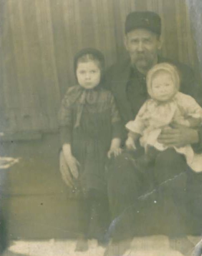
<svg viewBox="0 0 202 256">
<path fill-rule="evenodd" d="M 185 158 L 170 148 L 158 154 L 153 166 L 140 170 L 135 159 L 142 154 L 143 149 L 126 150 L 107 164 L 108 196 L 115 220 L 112 237 L 183 236 L 189 171 Z"/>
</svg>

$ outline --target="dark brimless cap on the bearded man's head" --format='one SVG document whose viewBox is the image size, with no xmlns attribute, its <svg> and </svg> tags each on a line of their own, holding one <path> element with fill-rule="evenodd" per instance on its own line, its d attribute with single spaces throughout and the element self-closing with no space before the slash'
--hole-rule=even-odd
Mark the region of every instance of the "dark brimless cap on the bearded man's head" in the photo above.
<svg viewBox="0 0 202 256">
<path fill-rule="evenodd" d="M 126 18 L 125 33 L 137 28 L 144 28 L 161 35 L 161 18 L 156 12 L 131 12 Z"/>
</svg>

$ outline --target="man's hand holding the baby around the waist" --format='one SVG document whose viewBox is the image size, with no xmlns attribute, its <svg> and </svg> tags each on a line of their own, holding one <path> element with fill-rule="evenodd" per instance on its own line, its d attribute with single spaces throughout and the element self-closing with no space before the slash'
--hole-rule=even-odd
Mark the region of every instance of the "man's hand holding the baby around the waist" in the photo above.
<svg viewBox="0 0 202 256">
<path fill-rule="evenodd" d="M 173 128 L 163 129 L 158 136 L 158 142 L 166 147 L 183 147 L 199 142 L 199 136 L 197 130 L 176 124 Z"/>
</svg>

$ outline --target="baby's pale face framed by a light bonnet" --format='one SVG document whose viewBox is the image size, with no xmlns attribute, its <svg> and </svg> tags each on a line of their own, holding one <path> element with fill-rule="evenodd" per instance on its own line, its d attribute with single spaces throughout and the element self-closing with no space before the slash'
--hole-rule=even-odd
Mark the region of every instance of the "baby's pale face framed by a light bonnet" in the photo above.
<svg viewBox="0 0 202 256">
<path fill-rule="evenodd" d="M 162 72 L 153 78 L 151 82 L 153 98 L 158 101 L 167 101 L 175 93 L 175 85 L 168 72 Z"/>
</svg>

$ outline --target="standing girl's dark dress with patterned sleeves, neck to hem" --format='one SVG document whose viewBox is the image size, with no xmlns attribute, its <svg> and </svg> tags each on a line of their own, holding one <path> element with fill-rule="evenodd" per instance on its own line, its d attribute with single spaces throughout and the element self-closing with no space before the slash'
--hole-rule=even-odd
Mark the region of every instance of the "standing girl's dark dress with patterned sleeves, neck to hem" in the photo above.
<svg viewBox="0 0 202 256">
<path fill-rule="evenodd" d="M 107 193 L 105 162 L 112 138 L 120 137 L 120 119 L 111 92 L 98 86 L 68 89 L 59 112 L 63 144 L 69 143 L 80 163 L 83 194 L 90 189 Z"/>
</svg>

